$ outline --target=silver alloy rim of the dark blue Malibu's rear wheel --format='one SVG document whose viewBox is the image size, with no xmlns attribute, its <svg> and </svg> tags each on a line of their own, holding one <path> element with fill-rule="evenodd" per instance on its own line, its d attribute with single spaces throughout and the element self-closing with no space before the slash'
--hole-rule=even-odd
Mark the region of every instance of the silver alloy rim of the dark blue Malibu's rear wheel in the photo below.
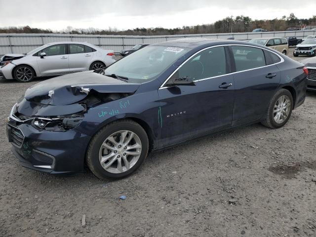
<svg viewBox="0 0 316 237">
<path fill-rule="evenodd" d="M 291 100 L 287 95 L 282 95 L 276 101 L 273 109 L 273 118 L 276 123 L 282 123 L 286 120 L 291 111 Z"/>
</svg>

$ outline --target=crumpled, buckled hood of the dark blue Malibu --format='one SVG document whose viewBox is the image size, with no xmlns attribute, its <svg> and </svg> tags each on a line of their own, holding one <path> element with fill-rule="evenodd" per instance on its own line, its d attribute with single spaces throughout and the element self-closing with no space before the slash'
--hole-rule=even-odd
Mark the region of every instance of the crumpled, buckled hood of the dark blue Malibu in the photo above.
<svg viewBox="0 0 316 237">
<path fill-rule="evenodd" d="M 85 71 L 41 81 L 28 88 L 24 98 L 44 105 L 70 105 L 84 99 L 91 90 L 99 93 L 133 93 L 139 85 Z"/>
</svg>

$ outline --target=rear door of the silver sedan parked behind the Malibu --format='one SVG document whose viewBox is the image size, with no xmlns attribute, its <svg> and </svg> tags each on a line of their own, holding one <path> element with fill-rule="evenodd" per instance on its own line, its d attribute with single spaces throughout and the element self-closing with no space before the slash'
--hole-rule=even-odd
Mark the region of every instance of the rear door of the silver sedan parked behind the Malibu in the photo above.
<svg viewBox="0 0 316 237">
<path fill-rule="evenodd" d="M 81 72 L 89 70 L 93 52 L 90 47 L 83 44 L 69 45 L 69 70 L 70 72 Z"/>
</svg>

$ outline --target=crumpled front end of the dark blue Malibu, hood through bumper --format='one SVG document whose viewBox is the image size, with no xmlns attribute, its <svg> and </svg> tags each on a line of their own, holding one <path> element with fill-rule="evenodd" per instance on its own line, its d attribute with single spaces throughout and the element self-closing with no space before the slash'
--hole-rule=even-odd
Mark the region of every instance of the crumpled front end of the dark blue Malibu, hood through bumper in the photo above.
<svg viewBox="0 0 316 237">
<path fill-rule="evenodd" d="M 69 78 L 76 74 L 67 76 L 30 87 L 10 112 L 7 136 L 12 152 L 25 167 L 49 173 L 82 171 L 91 139 L 86 128 L 100 122 L 91 120 L 96 117 L 93 109 L 128 97 L 139 87 L 102 75 L 97 77 L 103 83 L 98 79 L 82 83 L 80 74 L 81 83 L 75 83 Z"/>
</svg>

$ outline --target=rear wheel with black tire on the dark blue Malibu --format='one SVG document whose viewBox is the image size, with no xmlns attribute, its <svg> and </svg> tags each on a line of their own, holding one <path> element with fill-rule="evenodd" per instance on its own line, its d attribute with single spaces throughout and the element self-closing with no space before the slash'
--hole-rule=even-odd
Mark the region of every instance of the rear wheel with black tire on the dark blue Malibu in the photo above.
<svg viewBox="0 0 316 237">
<path fill-rule="evenodd" d="M 282 99 L 283 98 L 283 99 Z M 282 118 L 282 120 L 278 120 L 276 121 L 277 118 L 276 115 L 278 112 L 274 113 L 275 107 L 276 110 L 278 110 L 279 108 L 277 107 L 277 103 L 279 104 L 280 100 L 283 100 L 283 103 L 285 102 L 286 106 L 284 106 L 284 112 L 280 112 L 280 115 L 282 118 L 282 115 L 287 115 L 286 118 Z M 288 101 L 289 100 L 289 105 L 288 105 Z M 280 104 L 279 104 L 280 105 Z M 282 108 L 282 107 L 281 107 Z M 281 109 L 280 108 L 280 109 Z M 264 121 L 262 121 L 261 123 L 266 126 L 266 127 L 270 127 L 270 128 L 279 128 L 282 127 L 290 118 L 291 114 L 292 114 L 292 110 L 293 110 L 293 97 L 291 92 L 289 92 L 286 89 L 280 89 L 276 92 L 276 94 L 272 97 L 270 103 L 269 103 L 269 108 L 268 108 L 268 112 L 266 114 L 266 118 Z M 283 111 L 283 110 L 281 110 Z"/>
</svg>

